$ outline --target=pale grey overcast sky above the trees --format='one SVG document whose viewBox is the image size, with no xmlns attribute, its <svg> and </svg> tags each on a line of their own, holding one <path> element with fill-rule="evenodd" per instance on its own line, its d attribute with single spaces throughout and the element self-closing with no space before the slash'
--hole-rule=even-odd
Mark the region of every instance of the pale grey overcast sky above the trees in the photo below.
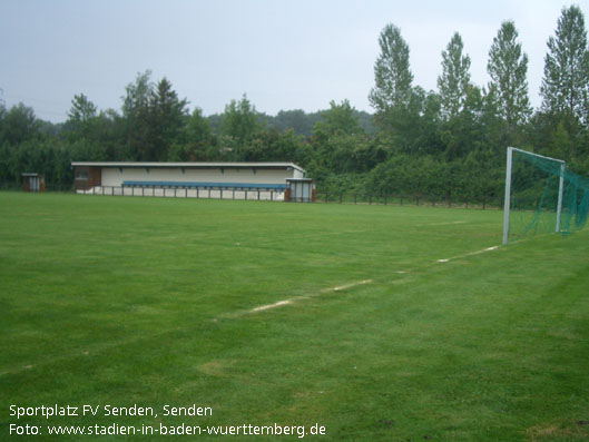
<svg viewBox="0 0 589 442">
<path fill-rule="evenodd" d="M 372 111 L 379 35 L 394 23 L 410 47 L 414 86 L 436 90 L 441 51 L 458 31 L 474 84 L 501 22 L 513 20 L 540 105 L 547 40 L 560 0 L 0 0 L 0 98 L 39 118 L 67 119 L 75 94 L 120 110 L 138 72 L 166 77 L 190 109 L 222 112 L 246 94 L 262 112 Z M 587 17 L 589 0 L 579 0 Z M 589 23 L 588 23 L 589 24 Z"/>
</svg>

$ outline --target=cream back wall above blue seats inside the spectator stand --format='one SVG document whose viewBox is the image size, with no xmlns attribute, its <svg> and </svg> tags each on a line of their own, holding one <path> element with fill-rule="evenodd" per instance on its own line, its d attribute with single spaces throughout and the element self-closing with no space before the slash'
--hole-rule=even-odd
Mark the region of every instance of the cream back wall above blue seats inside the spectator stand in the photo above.
<svg viewBox="0 0 589 442">
<path fill-rule="evenodd" d="M 190 169 L 104 167 L 102 186 L 121 186 L 122 181 L 189 181 L 286 184 L 286 178 L 303 178 L 297 169 Z"/>
</svg>

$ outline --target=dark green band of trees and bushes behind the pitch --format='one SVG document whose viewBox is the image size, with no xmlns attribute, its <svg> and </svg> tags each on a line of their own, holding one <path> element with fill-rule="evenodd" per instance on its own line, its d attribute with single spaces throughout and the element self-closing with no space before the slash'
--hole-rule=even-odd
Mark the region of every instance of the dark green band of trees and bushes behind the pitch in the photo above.
<svg viewBox="0 0 589 442">
<path fill-rule="evenodd" d="M 379 45 L 373 115 L 343 100 L 318 112 L 268 116 L 244 95 L 207 117 L 149 71 L 127 86 L 120 111 L 99 111 L 80 94 L 63 124 L 0 102 L 0 183 L 38 171 L 68 186 L 72 160 L 293 161 L 320 191 L 475 202 L 502 194 L 510 145 L 589 174 L 589 48 L 578 7 L 562 10 L 548 41 L 539 109 L 529 102 L 528 56 L 512 21 L 492 41 L 483 87 L 471 81 L 458 32 L 442 51 L 436 91 L 413 85 L 399 28 L 387 24 Z"/>
</svg>

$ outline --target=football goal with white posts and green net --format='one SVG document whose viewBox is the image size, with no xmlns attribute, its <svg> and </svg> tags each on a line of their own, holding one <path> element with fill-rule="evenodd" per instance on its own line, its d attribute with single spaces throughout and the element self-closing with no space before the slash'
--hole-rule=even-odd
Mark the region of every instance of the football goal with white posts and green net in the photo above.
<svg viewBox="0 0 589 442">
<path fill-rule="evenodd" d="M 587 178 L 567 169 L 560 159 L 508 147 L 503 244 L 580 229 L 588 209 Z"/>
</svg>

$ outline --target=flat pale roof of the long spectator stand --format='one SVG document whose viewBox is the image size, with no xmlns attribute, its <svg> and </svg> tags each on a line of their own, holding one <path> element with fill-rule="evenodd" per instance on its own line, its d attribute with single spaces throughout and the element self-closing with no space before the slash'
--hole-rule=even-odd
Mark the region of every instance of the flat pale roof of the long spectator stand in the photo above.
<svg viewBox="0 0 589 442">
<path fill-rule="evenodd" d="M 170 167 L 186 169 L 296 169 L 305 171 L 294 163 L 132 163 L 132 161 L 72 161 L 71 166 L 88 167 Z"/>
</svg>

